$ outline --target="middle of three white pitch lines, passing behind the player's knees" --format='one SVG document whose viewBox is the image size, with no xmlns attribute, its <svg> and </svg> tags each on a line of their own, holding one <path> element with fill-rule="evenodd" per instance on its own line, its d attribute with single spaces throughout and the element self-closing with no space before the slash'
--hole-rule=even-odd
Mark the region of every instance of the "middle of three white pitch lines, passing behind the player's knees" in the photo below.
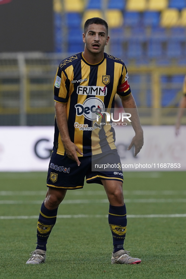
<svg viewBox="0 0 186 279">
<path fill-rule="evenodd" d="M 0 204 L 42 204 L 43 201 L 9 201 L 1 200 Z M 125 199 L 126 203 L 184 203 L 186 199 Z M 108 199 L 103 200 L 64 200 L 61 204 L 83 204 L 83 203 L 108 203 Z"/>
</svg>

